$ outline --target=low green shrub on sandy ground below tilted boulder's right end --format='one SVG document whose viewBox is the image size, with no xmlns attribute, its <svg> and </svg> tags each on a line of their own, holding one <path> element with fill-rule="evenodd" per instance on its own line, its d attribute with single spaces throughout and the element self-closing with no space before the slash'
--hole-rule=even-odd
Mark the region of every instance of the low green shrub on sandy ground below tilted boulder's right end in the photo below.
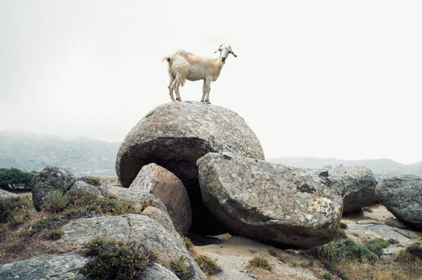
<svg viewBox="0 0 422 280">
<path fill-rule="evenodd" d="M 378 255 L 373 253 L 367 246 L 356 243 L 350 238 L 331 241 L 316 249 L 318 256 L 330 262 L 340 262 L 345 260 L 362 261 L 369 260 L 374 262 L 378 260 Z"/>
</svg>

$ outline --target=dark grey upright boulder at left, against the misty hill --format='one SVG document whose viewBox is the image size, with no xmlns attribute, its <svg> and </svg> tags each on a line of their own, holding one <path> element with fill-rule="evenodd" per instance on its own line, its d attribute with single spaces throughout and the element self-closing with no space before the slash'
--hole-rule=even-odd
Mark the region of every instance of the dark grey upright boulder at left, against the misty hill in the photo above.
<svg viewBox="0 0 422 280">
<path fill-rule="evenodd" d="M 75 182 L 72 172 L 56 166 L 47 166 L 32 179 L 32 201 L 34 208 L 41 210 L 46 199 L 53 191 L 68 191 Z"/>
</svg>

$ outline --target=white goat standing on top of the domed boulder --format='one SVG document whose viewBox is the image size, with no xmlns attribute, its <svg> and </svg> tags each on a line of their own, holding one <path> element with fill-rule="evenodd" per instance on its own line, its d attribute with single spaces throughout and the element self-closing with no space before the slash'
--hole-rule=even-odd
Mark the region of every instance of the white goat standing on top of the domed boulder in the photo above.
<svg viewBox="0 0 422 280">
<path fill-rule="evenodd" d="M 198 81 L 198 79 L 204 80 L 203 85 L 203 97 L 200 102 L 210 103 L 210 84 L 217 80 L 220 71 L 222 70 L 224 63 L 226 62 L 227 56 L 233 54 L 237 57 L 231 46 L 222 44 L 219 46 L 219 57 L 218 58 L 206 58 L 203 56 L 196 56 L 195 54 L 188 53 L 184 50 L 177 51 L 171 56 L 162 58 L 162 61 L 169 63 L 169 75 L 170 75 L 170 98 L 174 100 L 173 91 L 176 92 L 176 100 L 181 101 L 179 94 L 179 86 L 183 87 L 186 79 L 189 81 Z M 215 51 L 215 53 L 217 53 Z"/>
</svg>

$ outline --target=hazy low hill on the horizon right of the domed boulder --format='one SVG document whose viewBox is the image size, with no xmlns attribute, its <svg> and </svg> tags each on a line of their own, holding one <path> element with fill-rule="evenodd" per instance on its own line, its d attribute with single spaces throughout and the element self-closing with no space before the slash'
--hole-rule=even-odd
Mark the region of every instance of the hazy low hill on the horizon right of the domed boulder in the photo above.
<svg viewBox="0 0 422 280">
<path fill-rule="evenodd" d="M 305 168 L 314 172 L 322 172 L 338 166 L 363 166 L 369 168 L 378 181 L 398 174 L 414 174 L 422 177 L 422 162 L 403 165 L 386 158 L 379 160 L 338 160 L 336 158 L 283 157 L 269 158 L 267 161 Z"/>
</svg>

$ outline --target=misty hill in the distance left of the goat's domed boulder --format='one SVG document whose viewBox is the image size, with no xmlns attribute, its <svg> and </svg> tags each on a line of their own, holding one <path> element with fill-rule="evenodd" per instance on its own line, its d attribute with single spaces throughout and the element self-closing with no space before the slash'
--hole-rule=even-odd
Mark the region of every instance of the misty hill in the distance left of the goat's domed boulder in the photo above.
<svg viewBox="0 0 422 280">
<path fill-rule="evenodd" d="M 87 137 L 0 132 L 0 167 L 43 170 L 57 165 L 75 176 L 117 177 L 115 160 L 120 142 Z"/>
</svg>

